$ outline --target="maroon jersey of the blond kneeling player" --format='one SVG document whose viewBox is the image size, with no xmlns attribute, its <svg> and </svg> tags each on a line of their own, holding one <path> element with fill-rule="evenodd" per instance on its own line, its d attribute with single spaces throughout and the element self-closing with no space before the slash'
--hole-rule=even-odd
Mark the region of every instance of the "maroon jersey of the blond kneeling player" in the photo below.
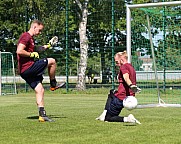
<svg viewBox="0 0 181 144">
<path fill-rule="evenodd" d="M 123 74 L 125 73 L 129 74 L 129 79 L 132 84 L 136 85 L 136 72 L 134 67 L 130 63 L 120 66 L 118 74 L 118 92 L 115 94 L 115 96 L 117 96 L 120 100 L 123 100 L 126 96 L 135 96 L 135 93 L 129 88 L 123 78 Z"/>
</svg>

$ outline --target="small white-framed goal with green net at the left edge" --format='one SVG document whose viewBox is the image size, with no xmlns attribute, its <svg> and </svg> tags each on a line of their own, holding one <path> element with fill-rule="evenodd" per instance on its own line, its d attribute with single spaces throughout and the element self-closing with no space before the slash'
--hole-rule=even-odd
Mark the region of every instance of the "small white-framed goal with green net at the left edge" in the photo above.
<svg viewBox="0 0 181 144">
<path fill-rule="evenodd" d="M 14 59 L 10 52 L 0 52 L 0 95 L 16 94 Z"/>
</svg>

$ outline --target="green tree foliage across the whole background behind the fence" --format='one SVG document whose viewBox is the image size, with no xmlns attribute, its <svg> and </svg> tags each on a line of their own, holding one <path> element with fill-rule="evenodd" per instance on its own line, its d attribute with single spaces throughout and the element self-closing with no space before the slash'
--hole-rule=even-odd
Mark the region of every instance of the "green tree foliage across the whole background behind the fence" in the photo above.
<svg viewBox="0 0 181 144">
<path fill-rule="evenodd" d="M 161 0 L 159 0 L 161 2 Z M 169 0 L 165 0 L 169 1 Z M 81 3 L 84 0 L 80 1 Z M 114 2 L 114 7 L 113 7 Z M 132 4 L 150 3 L 151 0 L 134 0 Z M 147 32 L 146 13 L 150 15 L 150 20 L 157 18 L 156 23 L 151 23 L 152 27 L 163 30 L 163 18 L 158 18 L 158 13 L 161 13 L 162 7 L 150 10 L 135 10 L 132 13 L 132 52 L 135 53 L 137 48 L 147 49 L 147 54 L 151 55 L 150 41 L 145 38 L 142 33 Z M 68 13 L 68 43 L 66 43 L 66 13 Z M 155 14 L 155 15 L 154 15 Z M 157 58 L 161 58 L 158 62 L 159 70 L 165 66 L 167 69 L 180 69 L 180 36 L 173 34 L 173 31 L 179 31 L 180 20 L 177 18 L 181 12 L 178 9 L 165 10 L 165 19 L 169 25 L 169 35 L 165 37 L 166 43 L 163 40 L 158 42 L 155 47 Z M 0 2 L 0 50 L 12 52 L 16 59 L 16 44 L 20 34 L 27 31 L 30 22 L 33 19 L 40 19 L 44 22 L 45 28 L 42 35 L 35 38 L 36 45 L 46 44 L 49 39 L 57 35 L 59 43 L 55 50 L 49 50 L 42 53 L 42 57 L 55 57 L 58 66 L 65 70 L 66 63 L 66 47 L 68 47 L 68 62 L 72 69 L 72 74 L 77 74 L 77 61 L 80 56 L 80 40 L 79 40 L 79 22 L 80 9 L 74 0 L 69 0 L 69 9 L 66 11 L 66 0 L 3 0 Z M 152 15 L 154 15 L 152 17 Z M 173 20 L 170 17 L 175 17 Z M 114 25 L 113 25 L 114 24 Z M 159 25 L 158 25 L 159 24 Z M 175 24 L 172 27 L 171 24 Z M 114 28 L 113 28 L 114 26 Z M 166 27 L 167 29 L 167 27 Z M 96 0 L 89 1 L 88 4 L 88 66 L 96 63 L 101 63 L 101 70 L 104 71 L 106 66 L 112 67 L 112 57 L 118 51 L 126 50 L 126 3 L 123 0 Z M 152 31 L 153 37 L 158 34 L 157 31 Z M 171 34 L 172 33 L 172 34 Z M 113 36 L 115 38 L 113 38 Z M 167 46 L 168 44 L 172 46 Z M 67 44 L 67 45 L 66 45 Z M 177 45 L 177 48 L 174 47 Z M 163 49 L 163 47 L 165 49 Z M 174 48 L 174 49 L 173 49 Z M 157 49 L 157 51 L 156 51 Z M 54 56 L 56 53 L 56 56 Z M 98 54 L 99 53 L 99 54 Z M 174 55 L 174 57 L 172 57 Z M 97 57 L 97 59 L 95 59 Z M 171 59 L 172 58 L 172 59 Z M 173 60 L 174 58 L 174 60 Z M 137 56 L 133 56 L 137 60 Z M 168 61 L 166 62 L 165 59 Z M 98 60 L 98 61 L 97 61 Z M 176 63 L 173 66 L 173 63 Z M 16 61 L 15 61 L 16 64 Z M 139 69 L 140 61 L 135 62 L 136 69 Z M 17 64 L 16 64 L 17 65 Z M 15 67 L 16 67 L 15 65 Z M 65 74 L 66 72 L 62 72 Z"/>
</svg>

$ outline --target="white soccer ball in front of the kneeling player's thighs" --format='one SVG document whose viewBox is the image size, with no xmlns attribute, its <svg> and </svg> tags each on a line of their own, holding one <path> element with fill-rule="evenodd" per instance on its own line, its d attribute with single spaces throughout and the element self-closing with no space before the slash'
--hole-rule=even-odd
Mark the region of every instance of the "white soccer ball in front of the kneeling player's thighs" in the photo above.
<svg viewBox="0 0 181 144">
<path fill-rule="evenodd" d="M 127 110 L 132 110 L 132 109 L 136 108 L 137 105 L 138 105 L 138 101 L 137 101 L 137 99 L 134 96 L 127 96 L 123 100 L 123 106 Z"/>
</svg>

